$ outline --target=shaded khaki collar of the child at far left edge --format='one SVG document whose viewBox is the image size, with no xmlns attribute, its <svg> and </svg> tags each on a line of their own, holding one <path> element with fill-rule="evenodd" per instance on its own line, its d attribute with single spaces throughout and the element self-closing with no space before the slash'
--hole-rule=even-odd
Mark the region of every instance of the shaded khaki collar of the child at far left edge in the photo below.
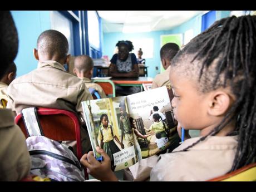
<svg viewBox="0 0 256 192">
<path fill-rule="evenodd" d="M 0 129 L 14 125 L 14 116 L 11 109 L 0 109 Z"/>
</svg>

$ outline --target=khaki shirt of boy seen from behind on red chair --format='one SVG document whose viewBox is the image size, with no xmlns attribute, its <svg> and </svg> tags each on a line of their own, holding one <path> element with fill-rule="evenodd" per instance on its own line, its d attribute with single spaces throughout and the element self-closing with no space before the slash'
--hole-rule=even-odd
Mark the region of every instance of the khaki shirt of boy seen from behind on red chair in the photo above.
<svg viewBox="0 0 256 192">
<path fill-rule="evenodd" d="M 82 101 L 92 100 L 85 82 L 65 71 L 56 61 L 39 62 L 37 69 L 16 78 L 9 85 L 7 108 L 18 114 L 27 107 L 48 107 L 81 115 Z M 82 151 L 91 148 L 85 129 L 81 128 Z"/>
</svg>

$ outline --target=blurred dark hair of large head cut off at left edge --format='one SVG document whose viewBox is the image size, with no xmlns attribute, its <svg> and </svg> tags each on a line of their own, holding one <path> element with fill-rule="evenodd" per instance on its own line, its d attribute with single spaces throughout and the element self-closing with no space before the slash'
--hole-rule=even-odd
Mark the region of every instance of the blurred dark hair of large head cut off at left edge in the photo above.
<svg viewBox="0 0 256 192">
<path fill-rule="evenodd" d="M 0 78 L 4 76 L 8 66 L 13 62 L 18 52 L 18 33 L 12 15 L 9 11 L 0 12 Z"/>
</svg>

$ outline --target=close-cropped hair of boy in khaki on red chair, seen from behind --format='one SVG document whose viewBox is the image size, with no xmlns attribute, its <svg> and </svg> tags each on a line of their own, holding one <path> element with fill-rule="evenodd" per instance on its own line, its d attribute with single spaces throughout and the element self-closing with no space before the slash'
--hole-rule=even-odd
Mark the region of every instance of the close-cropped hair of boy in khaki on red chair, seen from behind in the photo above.
<svg viewBox="0 0 256 192">
<path fill-rule="evenodd" d="M 58 59 L 63 59 L 68 53 L 67 38 L 59 31 L 46 30 L 37 39 L 37 50 L 43 55 L 56 55 Z"/>
</svg>

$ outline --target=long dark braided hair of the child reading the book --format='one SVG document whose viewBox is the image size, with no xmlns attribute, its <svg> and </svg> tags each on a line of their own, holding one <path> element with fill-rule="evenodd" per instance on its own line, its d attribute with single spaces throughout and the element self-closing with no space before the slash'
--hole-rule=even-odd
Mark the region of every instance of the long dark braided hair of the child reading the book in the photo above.
<svg viewBox="0 0 256 192">
<path fill-rule="evenodd" d="M 216 21 L 181 50 L 171 63 L 183 68 L 185 75 L 196 78 L 202 93 L 217 88 L 230 88 L 235 101 L 223 120 L 208 135 L 216 135 L 229 122 L 235 130 L 227 136 L 238 135 L 238 146 L 230 171 L 255 162 L 256 157 L 256 16 L 228 17 Z M 191 62 L 183 62 L 187 59 Z M 189 60 L 188 60 L 189 59 Z M 186 68 L 184 68 L 186 67 Z"/>
</svg>

